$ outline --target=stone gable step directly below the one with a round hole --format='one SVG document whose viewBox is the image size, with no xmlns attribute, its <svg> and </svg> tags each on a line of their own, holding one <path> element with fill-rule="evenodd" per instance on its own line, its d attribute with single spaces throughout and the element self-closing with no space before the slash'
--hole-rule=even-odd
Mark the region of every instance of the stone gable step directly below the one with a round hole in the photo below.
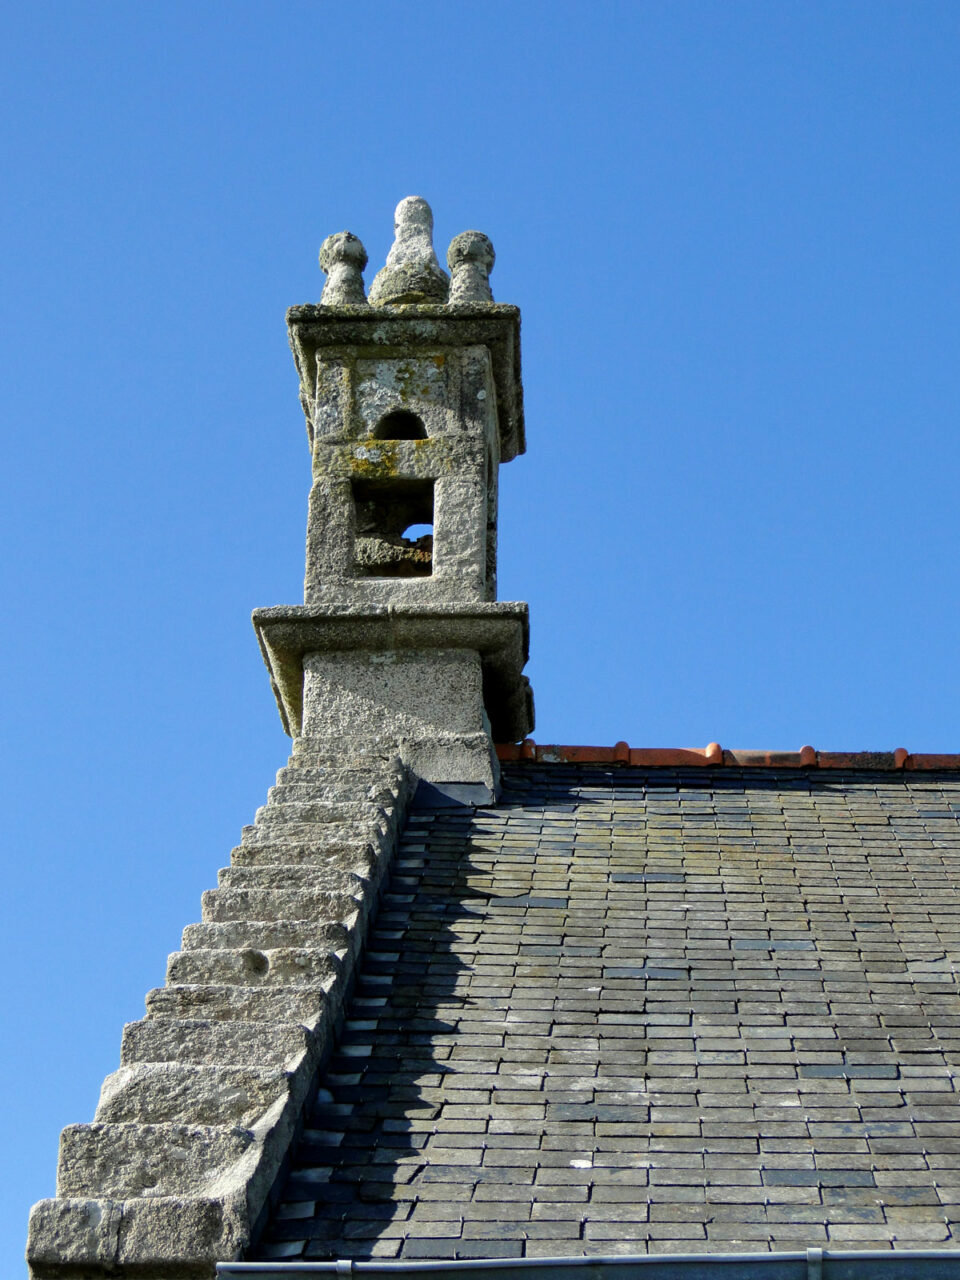
<svg viewBox="0 0 960 1280">
<path fill-rule="evenodd" d="M 301 1023 L 317 1030 L 335 1012 L 335 979 L 310 987 L 239 987 L 178 983 L 147 992 L 148 1018 L 202 1018 L 223 1021 Z"/>
</svg>

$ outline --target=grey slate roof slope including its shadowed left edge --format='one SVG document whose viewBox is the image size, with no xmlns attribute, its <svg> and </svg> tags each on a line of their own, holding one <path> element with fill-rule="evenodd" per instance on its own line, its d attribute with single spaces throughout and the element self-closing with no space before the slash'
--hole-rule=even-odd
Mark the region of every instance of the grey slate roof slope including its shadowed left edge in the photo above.
<svg viewBox="0 0 960 1280">
<path fill-rule="evenodd" d="M 956 1247 L 960 774 L 416 808 L 261 1258 Z"/>
</svg>

